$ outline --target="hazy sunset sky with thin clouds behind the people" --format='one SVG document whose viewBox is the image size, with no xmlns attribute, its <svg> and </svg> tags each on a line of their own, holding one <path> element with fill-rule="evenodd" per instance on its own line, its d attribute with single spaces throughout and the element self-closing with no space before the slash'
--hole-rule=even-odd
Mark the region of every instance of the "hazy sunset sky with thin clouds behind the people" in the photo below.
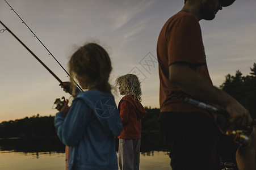
<svg viewBox="0 0 256 170">
<path fill-rule="evenodd" d="M 142 86 L 142 104 L 159 107 L 156 44 L 162 25 L 183 7 L 183 0 L 8 0 L 68 70 L 69 56 L 77 46 L 98 41 L 110 54 L 113 71 L 135 73 Z M 256 1 L 237 0 L 212 21 L 201 20 L 205 53 L 213 84 L 240 70 L 250 73 L 256 62 Z M 0 20 L 19 37 L 62 81 L 64 70 L 48 55 L 30 30 L 0 1 Z M 3 26 L 0 25 L 0 29 Z M 23 117 L 52 116 L 56 98 L 68 97 L 58 81 L 8 32 L 0 33 L 0 122 Z M 121 96 L 114 93 L 116 102 Z"/>
</svg>

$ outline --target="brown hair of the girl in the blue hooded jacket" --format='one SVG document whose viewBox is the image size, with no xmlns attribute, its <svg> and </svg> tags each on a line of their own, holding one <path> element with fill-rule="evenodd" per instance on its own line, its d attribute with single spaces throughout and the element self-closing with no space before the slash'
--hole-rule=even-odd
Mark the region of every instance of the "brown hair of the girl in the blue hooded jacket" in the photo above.
<svg viewBox="0 0 256 170">
<path fill-rule="evenodd" d="M 69 59 L 70 80 L 76 78 L 81 86 L 110 91 L 111 60 L 102 46 L 90 42 L 81 46 Z M 74 82 L 73 82 L 74 83 Z"/>
</svg>

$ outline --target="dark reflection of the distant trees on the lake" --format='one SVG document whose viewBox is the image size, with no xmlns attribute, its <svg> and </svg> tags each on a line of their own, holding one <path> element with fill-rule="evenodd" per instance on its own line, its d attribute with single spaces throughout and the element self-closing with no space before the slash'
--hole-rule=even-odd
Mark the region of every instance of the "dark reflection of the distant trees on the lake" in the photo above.
<svg viewBox="0 0 256 170">
<path fill-rule="evenodd" d="M 116 141 L 116 145 L 118 142 Z M 118 148 L 118 146 L 116 146 Z M 15 152 L 65 152 L 57 137 L 0 139 L 0 150 Z M 165 145 L 158 131 L 141 133 L 141 152 L 163 151 Z"/>
</svg>

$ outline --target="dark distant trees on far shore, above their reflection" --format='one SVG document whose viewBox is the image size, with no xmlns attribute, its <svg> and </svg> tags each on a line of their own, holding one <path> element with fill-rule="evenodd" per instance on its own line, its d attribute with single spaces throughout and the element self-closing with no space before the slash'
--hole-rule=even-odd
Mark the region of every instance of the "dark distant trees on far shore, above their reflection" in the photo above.
<svg viewBox="0 0 256 170">
<path fill-rule="evenodd" d="M 142 131 L 156 132 L 157 117 L 160 113 L 158 108 L 145 108 L 148 114 L 142 119 Z M 0 124 L 0 138 L 26 138 L 26 137 L 55 137 L 54 117 L 37 116 L 25 117 L 15 121 L 3 121 Z"/>
</svg>

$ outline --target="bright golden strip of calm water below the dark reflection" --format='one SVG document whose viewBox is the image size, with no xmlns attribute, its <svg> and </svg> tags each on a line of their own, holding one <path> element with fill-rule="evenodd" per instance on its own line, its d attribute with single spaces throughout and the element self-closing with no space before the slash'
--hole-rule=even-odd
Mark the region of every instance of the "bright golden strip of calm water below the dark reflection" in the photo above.
<svg viewBox="0 0 256 170">
<path fill-rule="evenodd" d="M 141 153 L 141 170 L 170 170 L 167 152 L 150 151 Z M 0 151 L 1 170 L 64 170 L 65 154 L 58 152 L 14 152 Z"/>
</svg>

